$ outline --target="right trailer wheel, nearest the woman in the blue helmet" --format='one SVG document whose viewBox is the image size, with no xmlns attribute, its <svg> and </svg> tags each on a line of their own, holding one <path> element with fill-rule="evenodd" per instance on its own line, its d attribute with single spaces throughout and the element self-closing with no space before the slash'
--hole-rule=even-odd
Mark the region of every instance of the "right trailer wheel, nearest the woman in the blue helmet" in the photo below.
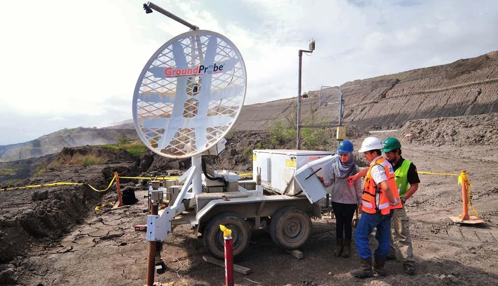
<svg viewBox="0 0 498 286">
<path fill-rule="evenodd" d="M 299 208 L 283 207 L 271 217 L 271 239 L 279 247 L 297 249 L 306 243 L 310 234 L 311 219 Z"/>
</svg>

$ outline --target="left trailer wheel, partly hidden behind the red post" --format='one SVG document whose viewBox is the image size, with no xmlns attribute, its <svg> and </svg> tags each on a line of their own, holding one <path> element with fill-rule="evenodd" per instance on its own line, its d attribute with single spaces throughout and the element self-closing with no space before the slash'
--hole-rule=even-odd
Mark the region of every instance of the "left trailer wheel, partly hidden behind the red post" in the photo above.
<svg viewBox="0 0 498 286">
<path fill-rule="evenodd" d="M 225 225 L 232 230 L 234 243 L 233 255 L 236 257 L 241 254 L 249 245 L 250 227 L 247 221 L 234 212 L 224 212 L 213 217 L 206 225 L 202 234 L 204 247 L 215 258 L 225 259 L 225 247 L 223 246 L 223 232 L 220 230 L 220 224 Z"/>
</svg>

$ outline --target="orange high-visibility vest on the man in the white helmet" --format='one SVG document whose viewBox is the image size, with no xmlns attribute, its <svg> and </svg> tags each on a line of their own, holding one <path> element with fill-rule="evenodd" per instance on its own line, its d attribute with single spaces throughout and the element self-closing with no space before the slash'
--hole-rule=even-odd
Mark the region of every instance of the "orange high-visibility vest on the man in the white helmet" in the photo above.
<svg viewBox="0 0 498 286">
<path fill-rule="evenodd" d="M 394 171 L 392 169 L 392 165 L 385 158 L 381 157 L 377 159 L 372 166 L 370 166 L 369 172 L 365 177 L 365 188 L 363 189 L 364 191 L 362 194 L 362 211 L 372 214 L 380 212 L 381 214 L 385 215 L 389 214 L 391 209 L 402 208 L 403 206 L 401 202 L 399 202 L 395 206 L 391 206 L 384 191 L 380 188 L 380 186 L 377 186 L 377 184 L 375 184 L 371 174 L 372 167 L 375 165 L 379 165 L 384 168 L 385 175 L 387 177 L 387 183 L 389 184 L 389 187 L 393 192 L 394 198 L 396 199 L 396 201 L 399 201 L 399 192 L 396 186 L 396 181 L 394 179 Z"/>
</svg>

